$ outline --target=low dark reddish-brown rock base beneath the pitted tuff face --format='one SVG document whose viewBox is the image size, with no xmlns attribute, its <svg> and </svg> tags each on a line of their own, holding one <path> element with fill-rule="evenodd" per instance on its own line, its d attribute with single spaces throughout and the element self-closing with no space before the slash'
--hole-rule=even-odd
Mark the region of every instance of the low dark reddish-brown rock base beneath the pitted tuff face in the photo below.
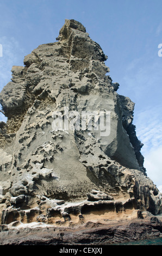
<svg viewBox="0 0 162 256">
<path fill-rule="evenodd" d="M 162 237 L 162 215 L 88 221 L 68 227 L 45 223 L 0 226 L 0 245 L 105 246 Z"/>
</svg>

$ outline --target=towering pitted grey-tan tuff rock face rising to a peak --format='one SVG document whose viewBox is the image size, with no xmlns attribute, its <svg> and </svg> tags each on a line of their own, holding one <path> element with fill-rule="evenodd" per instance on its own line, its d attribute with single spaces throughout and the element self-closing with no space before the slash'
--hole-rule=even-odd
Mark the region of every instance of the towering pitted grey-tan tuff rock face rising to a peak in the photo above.
<svg viewBox="0 0 162 256">
<path fill-rule="evenodd" d="M 1 224 L 161 214 L 132 123 L 134 103 L 117 94 L 105 60 L 84 26 L 65 20 L 57 42 L 13 66 L 0 94 L 8 117 L 0 123 Z"/>
</svg>

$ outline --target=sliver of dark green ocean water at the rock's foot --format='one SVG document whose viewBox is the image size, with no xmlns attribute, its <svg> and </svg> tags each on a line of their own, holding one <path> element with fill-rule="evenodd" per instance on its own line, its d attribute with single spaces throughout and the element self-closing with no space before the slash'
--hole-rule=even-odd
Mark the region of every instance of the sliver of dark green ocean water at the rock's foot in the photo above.
<svg viewBox="0 0 162 256">
<path fill-rule="evenodd" d="M 162 237 L 133 241 L 133 242 L 118 243 L 117 245 L 162 245 Z"/>
</svg>

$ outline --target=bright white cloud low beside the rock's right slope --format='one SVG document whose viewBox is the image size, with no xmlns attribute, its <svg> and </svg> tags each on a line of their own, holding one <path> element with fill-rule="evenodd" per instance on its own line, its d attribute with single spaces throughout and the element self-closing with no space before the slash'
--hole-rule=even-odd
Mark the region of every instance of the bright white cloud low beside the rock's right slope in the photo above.
<svg viewBox="0 0 162 256">
<path fill-rule="evenodd" d="M 162 106 L 138 112 L 136 134 L 144 144 L 141 149 L 145 157 L 144 167 L 155 185 L 162 184 Z"/>
</svg>

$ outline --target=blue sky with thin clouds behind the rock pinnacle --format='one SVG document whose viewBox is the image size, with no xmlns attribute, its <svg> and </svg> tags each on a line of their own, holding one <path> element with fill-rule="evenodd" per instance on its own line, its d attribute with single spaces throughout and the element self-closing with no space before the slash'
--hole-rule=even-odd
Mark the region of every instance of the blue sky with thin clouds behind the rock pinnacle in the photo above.
<svg viewBox="0 0 162 256">
<path fill-rule="evenodd" d="M 162 191 L 161 0 L 0 0 L 0 90 L 13 65 L 41 44 L 56 41 L 65 19 L 81 22 L 108 56 L 119 94 L 135 102 L 134 125 L 144 143 L 147 175 Z M 5 120 L 0 115 L 0 120 Z"/>
</svg>

